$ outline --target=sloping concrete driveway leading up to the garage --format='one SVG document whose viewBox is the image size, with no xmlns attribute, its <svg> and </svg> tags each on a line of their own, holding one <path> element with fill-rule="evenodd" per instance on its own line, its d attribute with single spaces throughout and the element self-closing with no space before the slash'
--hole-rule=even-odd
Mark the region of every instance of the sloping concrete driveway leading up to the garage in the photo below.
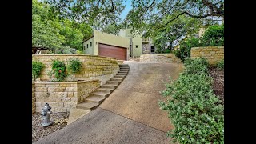
<svg viewBox="0 0 256 144">
<path fill-rule="evenodd" d="M 160 110 L 162 80 L 178 78 L 180 64 L 124 62 L 130 72 L 102 104 L 77 121 L 34 143 L 170 143 L 173 129 L 166 111 Z"/>
</svg>

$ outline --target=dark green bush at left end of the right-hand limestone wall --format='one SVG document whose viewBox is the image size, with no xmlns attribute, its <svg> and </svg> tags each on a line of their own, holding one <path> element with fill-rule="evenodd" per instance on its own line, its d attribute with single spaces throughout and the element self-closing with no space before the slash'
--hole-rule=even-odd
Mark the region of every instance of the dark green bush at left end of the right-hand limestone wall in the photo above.
<svg viewBox="0 0 256 144">
<path fill-rule="evenodd" d="M 199 43 L 199 38 L 189 38 L 180 42 L 180 49 L 174 50 L 174 54 L 184 62 L 185 58 L 190 58 L 191 48 L 198 46 L 202 46 Z"/>
</svg>

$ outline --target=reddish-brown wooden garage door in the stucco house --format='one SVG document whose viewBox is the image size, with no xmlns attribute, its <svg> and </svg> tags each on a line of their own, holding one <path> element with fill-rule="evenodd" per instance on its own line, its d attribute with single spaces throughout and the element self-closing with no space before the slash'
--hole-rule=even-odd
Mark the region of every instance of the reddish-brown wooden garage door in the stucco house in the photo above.
<svg viewBox="0 0 256 144">
<path fill-rule="evenodd" d="M 118 46 L 110 46 L 99 43 L 98 45 L 98 55 L 105 57 L 117 58 L 120 60 L 126 59 L 127 49 L 118 47 Z"/>
</svg>

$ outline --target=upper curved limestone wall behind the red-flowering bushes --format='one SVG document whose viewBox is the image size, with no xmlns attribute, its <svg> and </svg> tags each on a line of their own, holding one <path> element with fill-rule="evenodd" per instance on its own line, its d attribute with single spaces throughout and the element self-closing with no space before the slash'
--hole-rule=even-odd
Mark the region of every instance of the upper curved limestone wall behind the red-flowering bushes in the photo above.
<svg viewBox="0 0 256 144">
<path fill-rule="evenodd" d="M 75 74 L 76 80 L 100 80 L 101 85 L 118 73 L 119 66 L 116 58 L 108 58 L 86 54 L 32 54 L 32 60 L 42 62 L 45 68 L 40 75 L 41 80 L 50 80 L 47 72 L 51 69 L 54 59 L 64 61 L 70 58 L 78 58 L 82 62 L 82 69 L 79 74 Z M 72 77 L 70 77 L 72 78 Z M 69 78 L 66 78 L 68 80 Z"/>
</svg>

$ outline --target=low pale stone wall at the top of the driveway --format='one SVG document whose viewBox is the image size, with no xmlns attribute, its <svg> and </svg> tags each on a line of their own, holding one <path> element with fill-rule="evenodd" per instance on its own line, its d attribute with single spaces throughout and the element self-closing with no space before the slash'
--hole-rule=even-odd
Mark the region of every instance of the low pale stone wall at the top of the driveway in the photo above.
<svg viewBox="0 0 256 144">
<path fill-rule="evenodd" d="M 140 62 L 181 63 L 174 54 L 142 54 Z"/>
</svg>

